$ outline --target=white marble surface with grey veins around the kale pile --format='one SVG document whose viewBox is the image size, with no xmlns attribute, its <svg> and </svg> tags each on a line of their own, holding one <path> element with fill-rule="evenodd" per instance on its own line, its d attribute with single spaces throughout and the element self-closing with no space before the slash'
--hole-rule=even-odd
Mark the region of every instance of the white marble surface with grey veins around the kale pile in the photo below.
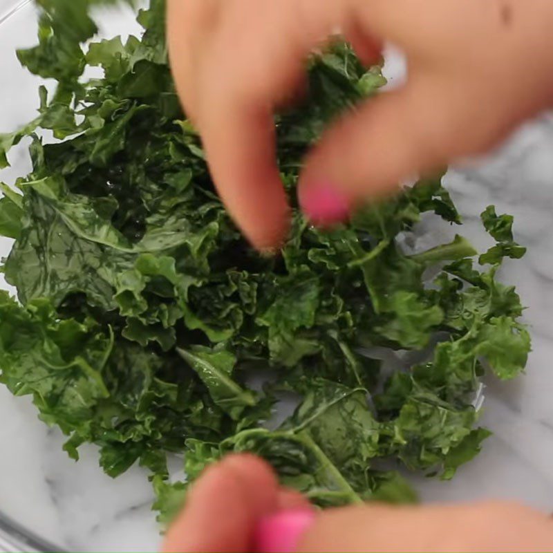
<svg viewBox="0 0 553 553">
<path fill-rule="evenodd" d="M 11 3 L 0 0 L 0 19 Z M 128 28 L 123 19 L 106 19 L 106 33 Z M 29 120 L 37 104 L 36 79 L 19 69 L 13 53 L 15 46 L 33 44 L 34 32 L 27 9 L 0 26 L 2 130 Z M 388 73 L 398 75 L 400 64 Z M 4 182 L 28 169 L 24 148 L 11 159 L 12 169 L 0 172 Z M 523 263 L 507 263 L 502 277 L 518 285 L 528 306 L 534 351 L 521 379 L 487 382 L 482 422 L 494 436 L 480 456 L 452 482 L 413 481 L 425 500 L 514 498 L 553 511 L 553 118 L 528 124 L 499 153 L 451 171 L 447 182 L 465 215 L 462 232 L 476 243 L 482 241 L 478 214 L 489 203 L 516 216 L 516 234 L 529 251 Z M 419 245 L 444 239 L 442 231 L 426 230 Z M 0 241 L 0 255 L 9 247 Z M 70 550 L 155 550 L 158 529 L 142 471 L 111 480 L 97 466 L 94 447 L 82 448 L 75 463 L 62 442 L 58 431 L 37 420 L 27 398 L 0 387 L 0 512 Z"/>
</svg>

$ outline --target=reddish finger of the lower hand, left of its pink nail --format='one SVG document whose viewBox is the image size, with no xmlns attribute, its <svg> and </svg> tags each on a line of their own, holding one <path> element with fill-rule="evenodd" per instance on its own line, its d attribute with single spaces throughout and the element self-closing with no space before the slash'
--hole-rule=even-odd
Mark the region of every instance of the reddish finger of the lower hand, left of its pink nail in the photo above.
<svg viewBox="0 0 553 553">
<path fill-rule="evenodd" d="M 257 522 L 278 508 L 277 492 L 277 480 L 265 462 L 249 455 L 229 456 L 194 484 L 162 550 L 250 551 Z"/>
</svg>

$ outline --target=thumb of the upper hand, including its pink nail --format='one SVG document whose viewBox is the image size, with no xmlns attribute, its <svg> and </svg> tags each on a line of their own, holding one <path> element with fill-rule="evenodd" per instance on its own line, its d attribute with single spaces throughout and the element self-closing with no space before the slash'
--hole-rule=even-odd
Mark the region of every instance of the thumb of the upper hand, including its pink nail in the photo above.
<svg viewBox="0 0 553 553">
<path fill-rule="evenodd" d="M 390 194 L 401 180 L 480 147 L 478 125 L 460 113 L 459 93 L 435 80 L 411 77 L 324 134 L 299 184 L 300 205 L 312 221 L 336 223 L 359 200 Z"/>
</svg>

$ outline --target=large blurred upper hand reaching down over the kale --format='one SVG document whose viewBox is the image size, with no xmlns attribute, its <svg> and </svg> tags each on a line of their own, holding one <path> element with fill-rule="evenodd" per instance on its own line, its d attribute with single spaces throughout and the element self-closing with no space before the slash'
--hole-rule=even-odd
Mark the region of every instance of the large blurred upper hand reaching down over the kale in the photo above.
<svg viewBox="0 0 553 553">
<path fill-rule="evenodd" d="M 303 62 L 337 28 L 372 64 L 383 41 L 409 79 L 328 129 L 299 185 L 316 222 L 450 160 L 483 152 L 553 92 L 553 2 L 533 0 L 169 0 L 176 86 L 219 194 L 259 249 L 278 247 L 288 204 L 272 112 L 301 86 Z"/>
</svg>

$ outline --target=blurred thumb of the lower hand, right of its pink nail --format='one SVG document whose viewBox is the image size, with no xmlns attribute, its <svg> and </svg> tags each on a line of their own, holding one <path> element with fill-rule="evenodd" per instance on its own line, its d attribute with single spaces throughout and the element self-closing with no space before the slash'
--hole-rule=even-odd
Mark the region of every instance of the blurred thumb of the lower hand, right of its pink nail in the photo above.
<svg viewBox="0 0 553 553">
<path fill-rule="evenodd" d="M 553 525 L 516 503 L 331 509 L 300 538 L 300 552 L 547 551 Z"/>
</svg>

